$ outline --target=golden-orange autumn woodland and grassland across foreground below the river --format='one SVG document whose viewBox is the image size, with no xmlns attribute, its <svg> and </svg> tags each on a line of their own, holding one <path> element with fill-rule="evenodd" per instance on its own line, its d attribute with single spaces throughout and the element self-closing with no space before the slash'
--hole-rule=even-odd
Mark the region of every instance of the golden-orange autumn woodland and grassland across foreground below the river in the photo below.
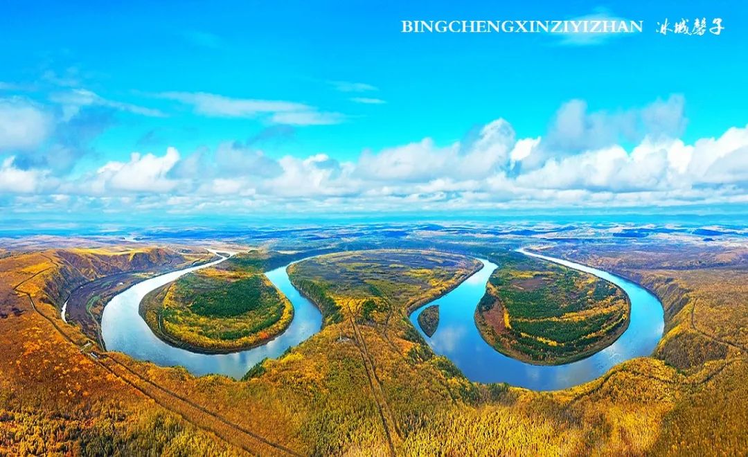
<svg viewBox="0 0 748 457">
<path fill-rule="evenodd" d="M 417 298 L 394 300 L 396 289 L 383 294 L 391 313 L 374 310 L 370 319 L 365 296 L 338 290 L 343 319 L 248 381 L 197 378 L 119 354 L 94 359 L 79 349 L 77 328 L 55 320 L 49 284 L 61 263 L 40 254 L 3 259 L 3 307 L 22 313 L 0 320 L 0 453 L 743 453 L 748 269 L 742 260 L 695 269 L 687 254 L 663 255 L 667 268 L 605 246 L 569 254 L 598 266 L 607 258 L 637 264 L 617 272 L 660 296 L 666 334 L 652 357 L 549 393 L 468 381 L 423 344 L 406 319 Z"/>
</svg>

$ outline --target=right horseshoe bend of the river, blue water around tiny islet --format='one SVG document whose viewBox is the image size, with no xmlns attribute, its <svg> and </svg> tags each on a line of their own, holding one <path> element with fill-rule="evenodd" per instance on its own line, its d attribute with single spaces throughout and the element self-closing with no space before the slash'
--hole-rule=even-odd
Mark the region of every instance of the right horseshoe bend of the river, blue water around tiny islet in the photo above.
<svg viewBox="0 0 748 457">
<path fill-rule="evenodd" d="M 411 314 L 411 322 L 434 352 L 450 358 L 473 381 L 506 382 L 534 390 L 557 390 L 592 381 L 616 364 L 652 353 L 662 337 L 664 326 L 662 305 L 654 295 L 635 283 L 598 269 L 522 252 L 595 274 L 619 286 L 631 299 L 628 329 L 612 345 L 571 364 L 539 366 L 502 355 L 485 343 L 473 318 L 476 305 L 485 293 L 488 277 L 497 267 L 488 260 L 481 260 L 483 268 L 479 272 L 444 297 Z M 421 331 L 417 319 L 423 308 L 431 304 L 439 305 L 439 325 L 429 338 Z"/>
</svg>

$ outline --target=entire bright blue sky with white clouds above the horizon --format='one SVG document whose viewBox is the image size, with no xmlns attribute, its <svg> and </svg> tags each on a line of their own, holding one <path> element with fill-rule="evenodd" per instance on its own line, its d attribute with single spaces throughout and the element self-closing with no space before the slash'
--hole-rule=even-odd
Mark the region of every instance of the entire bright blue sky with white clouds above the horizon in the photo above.
<svg viewBox="0 0 748 457">
<path fill-rule="evenodd" d="M 744 4 L 402 3 L 0 0 L 0 210 L 748 203 Z M 580 18 L 644 30 L 400 33 Z"/>
</svg>

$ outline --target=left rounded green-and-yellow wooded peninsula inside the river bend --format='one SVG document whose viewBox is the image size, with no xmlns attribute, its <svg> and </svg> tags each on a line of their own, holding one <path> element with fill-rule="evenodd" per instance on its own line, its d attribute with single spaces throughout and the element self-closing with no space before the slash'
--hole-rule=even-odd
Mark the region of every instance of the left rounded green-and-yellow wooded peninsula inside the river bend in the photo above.
<svg viewBox="0 0 748 457">
<path fill-rule="evenodd" d="M 281 334 L 293 306 L 248 254 L 185 274 L 143 298 L 140 314 L 153 333 L 193 352 L 249 349 Z"/>
</svg>

